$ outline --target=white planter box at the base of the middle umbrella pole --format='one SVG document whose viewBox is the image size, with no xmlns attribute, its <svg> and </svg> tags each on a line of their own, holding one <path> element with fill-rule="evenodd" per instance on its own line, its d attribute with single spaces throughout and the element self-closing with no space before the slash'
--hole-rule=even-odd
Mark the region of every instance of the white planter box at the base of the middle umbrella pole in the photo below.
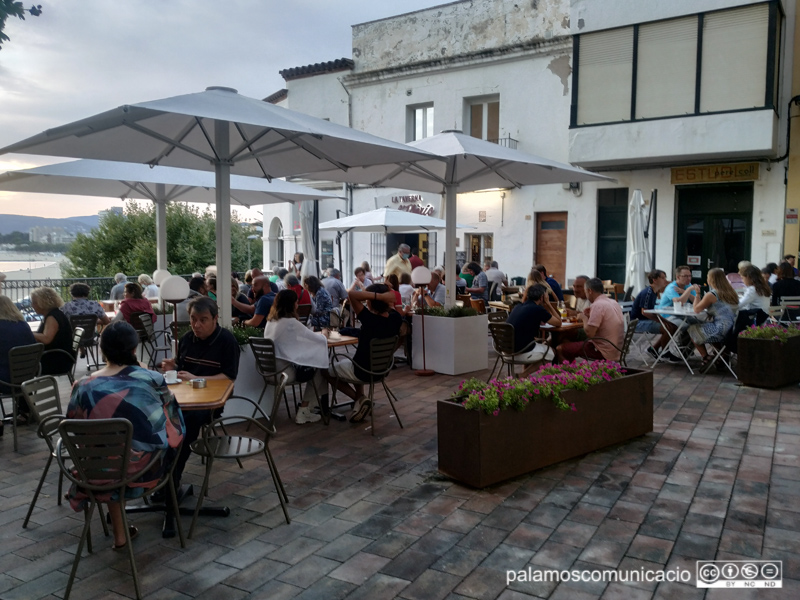
<svg viewBox="0 0 800 600">
<path fill-rule="evenodd" d="M 422 368 L 422 317 L 414 315 L 413 366 Z M 425 358 L 428 369 L 459 375 L 489 368 L 486 315 L 425 317 Z"/>
</svg>

